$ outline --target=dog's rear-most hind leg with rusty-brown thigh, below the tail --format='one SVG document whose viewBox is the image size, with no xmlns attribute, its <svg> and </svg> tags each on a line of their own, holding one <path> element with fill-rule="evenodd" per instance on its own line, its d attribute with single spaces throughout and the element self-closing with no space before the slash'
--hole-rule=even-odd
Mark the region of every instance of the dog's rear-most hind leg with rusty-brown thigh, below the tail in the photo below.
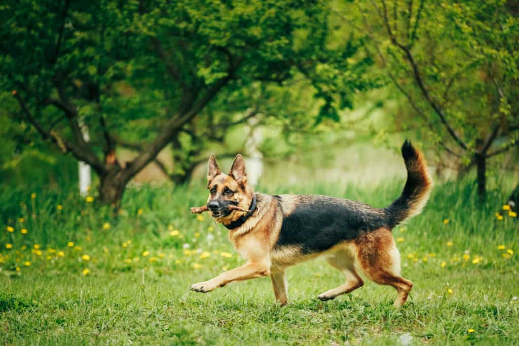
<svg viewBox="0 0 519 346">
<path fill-rule="evenodd" d="M 374 232 L 369 244 L 359 246 L 359 262 L 368 278 L 397 290 L 394 306 L 400 308 L 407 300 L 413 283 L 400 274 L 400 253 L 388 230 Z"/>
</svg>

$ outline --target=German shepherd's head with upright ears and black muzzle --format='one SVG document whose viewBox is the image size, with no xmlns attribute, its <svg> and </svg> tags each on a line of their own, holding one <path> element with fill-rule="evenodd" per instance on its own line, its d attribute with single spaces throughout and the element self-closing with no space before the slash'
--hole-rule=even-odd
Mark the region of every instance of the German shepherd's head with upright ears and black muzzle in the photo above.
<svg viewBox="0 0 519 346">
<path fill-rule="evenodd" d="M 243 156 L 238 154 L 229 174 L 225 174 L 218 168 L 214 155 L 211 155 L 207 171 L 207 207 L 216 221 L 228 225 L 245 214 L 241 211 L 229 211 L 229 205 L 237 205 L 247 210 L 252 202 L 254 192 L 247 184 L 245 161 Z"/>
</svg>

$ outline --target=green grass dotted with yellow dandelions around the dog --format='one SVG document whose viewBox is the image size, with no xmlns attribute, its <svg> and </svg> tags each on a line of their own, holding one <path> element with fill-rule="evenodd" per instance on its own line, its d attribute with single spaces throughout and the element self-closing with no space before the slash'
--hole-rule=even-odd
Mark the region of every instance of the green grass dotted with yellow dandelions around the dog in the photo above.
<svg viewBox="0 0 519 346">
<path fill-rule="evenodd" d="M 402 186 L 261 190 L 384 206 Z M 268 278 L 190 292 L 190 284 L 242 263 L 225 228 L 218 234 L 207 216 L 188 213 L 204 202 L 203 184 L 132 187 L 116 218 L 69 189 L 10 188 L 0 193 L 0 343 L 519 343 L 518 224 L 504 212 L 495 216 L 508 190 L 491 190 L 483 205 L 473 190 L 471 183 L 437 186 L 424 213 L 393 230 L 403 275 L 414 282 L 395 310 L 394 290 L 367 280 L 352 294 L 317 300 L 343 280 L 322 259 L 288 270 L 283 308 Z"/>
</svg>

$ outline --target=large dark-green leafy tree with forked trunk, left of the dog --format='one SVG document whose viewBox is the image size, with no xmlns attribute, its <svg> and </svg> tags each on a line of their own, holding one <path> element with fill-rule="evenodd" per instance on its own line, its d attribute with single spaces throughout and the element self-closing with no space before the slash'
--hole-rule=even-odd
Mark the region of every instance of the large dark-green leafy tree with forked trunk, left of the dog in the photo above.
<svg viewBox="0 0 519 346">
<path fill-rule="evenodd" d="M 92 166 L 100 200 L 115 207 L 136 173 L 169 143 L 182 144 L 181 133 L 242 120 L 247 102 L 209 116 L 209 105 L 226 105 L 222 95 L 302 75 L 324 100 L 317 121 L 336 121 L 348 91 L 362 87 L 352 71 L 367 63 L 347 62 L 358 47 L 348 41 L 330 47 L 325 2 L 2 6 L 2 88 L 15 90 L 24 121 L 44 139 Z M 139 141 L 131 162 L 117 159 L 118 138 Z"/>
</svg>

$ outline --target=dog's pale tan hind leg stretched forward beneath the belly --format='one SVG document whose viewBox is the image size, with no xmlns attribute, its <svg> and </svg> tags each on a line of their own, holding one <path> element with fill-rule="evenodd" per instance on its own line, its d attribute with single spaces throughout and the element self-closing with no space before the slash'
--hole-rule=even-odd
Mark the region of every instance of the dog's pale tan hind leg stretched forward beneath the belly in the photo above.
<svg viewBox="0 0 519 346">
<path fill-rule="evenodd" d="M 329 257 L 326 260 L 332 267 L 337 268 L 346 276 L 346 283 L 321 293 L 317 298 L 330 300 L 342 294 L 350 293 L 352 290 L 364 285 L 359 274 L 353 268 L 353 259 L 349 254 L 339 252 L 334 257 Z"/>
</svg>

